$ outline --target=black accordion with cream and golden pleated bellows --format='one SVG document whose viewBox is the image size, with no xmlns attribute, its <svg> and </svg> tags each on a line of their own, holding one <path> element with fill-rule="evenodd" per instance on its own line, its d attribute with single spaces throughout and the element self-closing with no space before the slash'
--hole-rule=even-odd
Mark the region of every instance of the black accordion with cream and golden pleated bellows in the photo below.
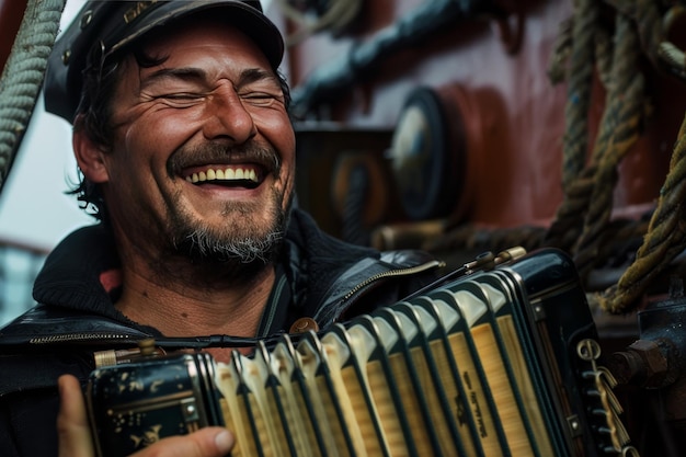
<svg viewBox="0 0 686 457">
<path fill-rule="evenodd" d="M 226 425 L 233 456 L 629 456 L 571 260 L 540 250 L 252 355 L 95 369 L 102 456 Z"/>
</svg>

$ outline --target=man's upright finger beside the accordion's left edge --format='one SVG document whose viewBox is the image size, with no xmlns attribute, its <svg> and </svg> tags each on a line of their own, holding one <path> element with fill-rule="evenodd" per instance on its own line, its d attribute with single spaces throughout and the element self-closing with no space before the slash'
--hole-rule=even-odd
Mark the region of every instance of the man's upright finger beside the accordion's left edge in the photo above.
<svg viewBox="0 0 686 457">
<path fill-rule="evenodd" d="M 93 457 L 93 441 L 88 425 L 81 386 L 70 375 L 60 376 L 57 436 L 59 457 Z"/>
</svg>

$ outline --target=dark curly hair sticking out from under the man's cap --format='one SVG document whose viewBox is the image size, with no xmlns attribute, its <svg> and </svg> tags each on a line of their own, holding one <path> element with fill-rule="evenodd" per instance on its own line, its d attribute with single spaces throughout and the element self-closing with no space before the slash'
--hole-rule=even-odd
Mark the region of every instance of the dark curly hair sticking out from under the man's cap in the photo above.
<svg viewBox="0 0 686 457">
<path fill-rule="evenodd" d="M 147 39 L 149 38 L 150 35 L 148 35 Z M 146 41 L 146 37 L 141 39 Z M 112 145 L 112 102 L 117 80 L 121 77 L 121 64 L 129 54 L 134 56 L 140 68 L 150 68 L 167 60 L 167 57 L 152 58 L 140 50 L 141 48 L 145 48 L 145 46 L 137 46 L 135 50 L 119 52 L 103 59 L 104 49 L 98 43 L 89 53 L 82 75 L 83 88 L 73 122 L 73 130 L 82 132 L 91 141 L 105 148 L 105 150 Z M 286 110 L 288 110 L 290 105 L 290 88 L 284 75 L 278 69 L 274 69 L 274 71 L 284 93 Z M 68 191 L 68 194 L 76 195 L 80 207 L 88 214 L 106 222 L 106 206 L 100 186 L 85 178 L 80 170 L 78 170 L 78 176 L 79 182 Z"/>
</svg>

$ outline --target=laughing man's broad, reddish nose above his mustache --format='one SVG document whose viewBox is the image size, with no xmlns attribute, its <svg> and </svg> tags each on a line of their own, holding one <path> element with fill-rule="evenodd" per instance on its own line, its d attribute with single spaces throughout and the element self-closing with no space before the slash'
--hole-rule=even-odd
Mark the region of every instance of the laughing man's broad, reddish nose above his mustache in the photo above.
<svg viewBox="0 0 686 457">
<path fill-rule="evenodd" d="M 217 88 L 207 99 L 203 134 L 207 139 L 228 138 L 242 144 L 256 133 L 252 115 L 231 84 Z"/>
</svg>

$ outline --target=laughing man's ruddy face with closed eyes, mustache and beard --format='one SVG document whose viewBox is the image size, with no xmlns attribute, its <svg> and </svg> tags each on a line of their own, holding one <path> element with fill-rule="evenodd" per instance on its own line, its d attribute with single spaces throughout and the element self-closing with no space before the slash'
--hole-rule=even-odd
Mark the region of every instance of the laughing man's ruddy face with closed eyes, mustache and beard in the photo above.
<svg viewBox="0 0 686 457">
<path fill-rule="evenodd" d="M 115 230 L 136 249 L 159 239 L 193 255 L 265 255 L 284 231 L 295 172 L 295 136 L 268 61 L 213 21 L 144 50 L 156 61 L 124 61 L 103 156 Z"/>
</svg>

